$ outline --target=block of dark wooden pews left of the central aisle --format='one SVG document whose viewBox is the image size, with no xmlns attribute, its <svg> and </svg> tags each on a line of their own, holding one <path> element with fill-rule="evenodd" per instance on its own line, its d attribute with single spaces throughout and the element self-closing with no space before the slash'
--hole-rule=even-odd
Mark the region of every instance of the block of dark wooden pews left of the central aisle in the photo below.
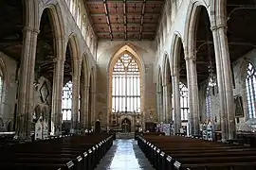
<svg viewBox="0 0 256 170">
<path fill-rule="evenodd" d="M 113 144 L 109 134 L 90 134 L 1 147 L 6 169 L 94 169 Z"/>
</svg>

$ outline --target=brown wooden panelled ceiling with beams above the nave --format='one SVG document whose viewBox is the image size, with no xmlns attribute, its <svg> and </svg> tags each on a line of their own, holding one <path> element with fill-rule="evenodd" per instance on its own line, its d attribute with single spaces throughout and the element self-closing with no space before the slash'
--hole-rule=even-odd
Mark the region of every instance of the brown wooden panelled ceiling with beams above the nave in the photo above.
<svg viewBox="0 0 256 170">
<path fill-rule="evenodd" d="M 84 0 L 99 39 L 155 40 L 165 0 Z"/>
</svg>

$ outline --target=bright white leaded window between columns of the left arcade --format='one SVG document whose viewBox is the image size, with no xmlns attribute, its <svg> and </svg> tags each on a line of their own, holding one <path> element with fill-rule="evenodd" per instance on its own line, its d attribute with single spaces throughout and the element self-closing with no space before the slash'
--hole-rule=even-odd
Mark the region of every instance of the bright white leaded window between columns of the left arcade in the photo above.
<svg viewBox="0 0 256 170">
<path fill-rule="evenodd" d="M 63 120 L 71 120 L 72 110 L 72 81 L 68 81 L 63 88 Z"/>
</svg>

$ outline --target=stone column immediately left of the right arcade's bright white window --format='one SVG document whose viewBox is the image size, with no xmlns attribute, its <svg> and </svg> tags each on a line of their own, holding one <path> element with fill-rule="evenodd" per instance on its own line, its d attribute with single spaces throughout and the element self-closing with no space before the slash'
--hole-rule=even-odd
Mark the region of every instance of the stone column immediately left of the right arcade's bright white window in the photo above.
<svg viewBox="0 0 256 170">
<path fill-rule="evenodd" d="M 179 75 L 172 75 L 173 93 L 174 93 L 174 132 L 179 133 L 181 127 L 180 115 L 180 93 L 179 93 Z"/>
</svg>

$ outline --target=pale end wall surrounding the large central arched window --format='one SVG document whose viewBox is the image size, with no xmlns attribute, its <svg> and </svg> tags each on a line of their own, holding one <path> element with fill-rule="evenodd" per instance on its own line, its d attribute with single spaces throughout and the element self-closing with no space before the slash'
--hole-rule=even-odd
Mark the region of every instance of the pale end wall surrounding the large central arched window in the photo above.
<svg viewBox="0 0 256 170">
<path fill-rule="evenodd" d="M 97 103 L 96 116 L 101 111 L 103 113 L 102 125 L 106 125 L 106 116 L 111 106 L 108 106 L 108 67 L 109 62 L 115 53 L 125 44 L 128 44 L 136 50 L 138 56 L 142 59 L 145 66 L 144 78 L 144 113 L 152 110 L 155 112 L 155 82 L 154 82 L 154 61 L 155 61 L 155 45 L 150 41 L 100 41 L 98 42 L 97 63 Z M 108 108 L 110 107 L 110 108 Z"/>
</svg>

